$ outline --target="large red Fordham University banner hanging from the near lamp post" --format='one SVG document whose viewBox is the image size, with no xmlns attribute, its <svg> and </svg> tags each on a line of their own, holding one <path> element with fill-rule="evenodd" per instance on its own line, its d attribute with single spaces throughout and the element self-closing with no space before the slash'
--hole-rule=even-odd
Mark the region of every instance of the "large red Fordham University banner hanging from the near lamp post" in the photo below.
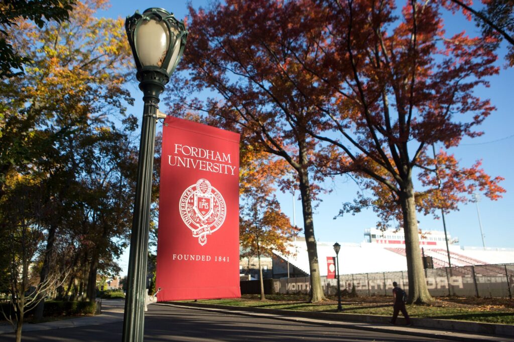
<svg viewBox="0 0 514 342">
<path fill-rule="evenodd" d="M 162 130 L 157 299 L 240 297 L 239 134 L 171 116 Z"/>
</svg>

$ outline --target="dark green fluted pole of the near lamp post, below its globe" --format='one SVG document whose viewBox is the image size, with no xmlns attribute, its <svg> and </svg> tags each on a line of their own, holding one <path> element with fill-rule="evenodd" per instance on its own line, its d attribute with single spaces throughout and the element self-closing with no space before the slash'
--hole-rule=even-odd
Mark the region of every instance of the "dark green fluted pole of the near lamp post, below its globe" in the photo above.
<svg viewBox="0 0 514 342">
<path fill-rule="evenodd" d="M 164 75 L 141 72 L 138 75 L 143 91 L 143 120 L 139 144 L 136 198 L 132 220 L 132 236 L 128 258 L 127 292 L 123 315 L 123 342 L 142 342 L 144 336 L 144 303 L 146 294 L 146 264 L 152 195 L 155 126 L 159 94 L 164 89 Z"/>
</svg>

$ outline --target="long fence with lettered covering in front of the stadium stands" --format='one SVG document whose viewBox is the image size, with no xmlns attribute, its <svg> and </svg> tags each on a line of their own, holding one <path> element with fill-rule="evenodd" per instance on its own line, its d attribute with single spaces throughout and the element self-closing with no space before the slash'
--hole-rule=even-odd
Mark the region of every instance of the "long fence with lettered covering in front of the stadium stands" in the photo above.
<svg viewBox="0 0 514 342">
<path fill-rule="evenodd" d="M 475 265 L 426 269 L 427 287 L 432 296 L 509 297 L 514 294 L 514 264 Z M 409 289 L 407 271 L 341 274 L 341 291 L 357 295 L 392 295 L 393 281 Z M 337 279 L 321 277 L 326 295 L 337 293 Z M 276 293 L 309 293 L 310 277 L 273 280 Z"/>
</svg>

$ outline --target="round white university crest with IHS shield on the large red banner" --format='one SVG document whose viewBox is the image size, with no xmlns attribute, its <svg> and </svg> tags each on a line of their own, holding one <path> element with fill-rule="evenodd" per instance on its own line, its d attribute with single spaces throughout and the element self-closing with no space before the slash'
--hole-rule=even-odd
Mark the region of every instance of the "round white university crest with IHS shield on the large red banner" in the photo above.
<svg viewBox="0 0 514 342">
<path fill-rule="evenodd" d="M 200 178 L 196 184 L 188 187 L 180 196 L 180 217 L 198 237 L 201 246 L 207 244 L 207 235 L 212 234 L 223 225 L 227 214 L 225 199 L 209 180 Z"/>
</svg>

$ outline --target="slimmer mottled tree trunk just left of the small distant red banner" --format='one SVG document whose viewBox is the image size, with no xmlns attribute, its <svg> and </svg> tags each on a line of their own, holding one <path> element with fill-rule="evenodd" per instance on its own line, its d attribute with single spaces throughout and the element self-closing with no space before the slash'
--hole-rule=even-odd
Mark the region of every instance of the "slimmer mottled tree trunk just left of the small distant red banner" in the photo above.
<svg viewBox="0 0 514 342">
<path fill-rule="evenodd" d="M 303 158 L 302 158 L 303 159 Z M 303 164 L 303 163 L 302 163 Z M 321 276 L 318 263 L 318 247 L 316 244 L 316 237 L 314 236 L 314 221 L 313 221 L 313 207 L 311 204 L 309 176 L 306 169 L 299 172 L 300 177 L 300 194 L 302 198 L 302 212 L 303 212 L 303 225 L 305 233 L 305 243 L 307 245 L 307 254 L 309 256 L 309 271 L 310 271 L 310 301 L 316 303 L 324 300 L 323 288 L 321 286 Z"/>
</svg>

